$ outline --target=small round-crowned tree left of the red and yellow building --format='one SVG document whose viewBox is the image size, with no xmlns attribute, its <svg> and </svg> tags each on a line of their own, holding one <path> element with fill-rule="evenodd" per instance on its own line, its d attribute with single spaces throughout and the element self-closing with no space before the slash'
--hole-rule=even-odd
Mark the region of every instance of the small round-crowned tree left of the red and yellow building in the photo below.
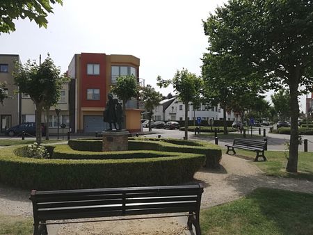
<svg viewBox="0 0 313 235">
<path fill-rule="evenodd" d="M 19 65 L 13 76 L 19 92 L 29 95 L 35 103 L 36 141 L 40 144 L 42 110 L 58 102 L 65 77 L 61 76 L 60 68 L 54 65 L 49 55 L 41 65 L 35 60 L 27 60 L 26 64 Z"/>
</svg>

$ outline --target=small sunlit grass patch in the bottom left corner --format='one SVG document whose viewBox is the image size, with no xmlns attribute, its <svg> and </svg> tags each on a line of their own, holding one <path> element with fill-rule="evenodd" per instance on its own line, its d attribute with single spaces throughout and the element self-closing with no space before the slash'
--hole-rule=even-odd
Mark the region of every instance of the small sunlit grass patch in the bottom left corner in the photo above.
<svg viewBox="0 0 313 235">
<path fill-rule="evenodd" d="M 0 234 L 33 234 L 33 218 L 0 215 Z"/>
</svg>

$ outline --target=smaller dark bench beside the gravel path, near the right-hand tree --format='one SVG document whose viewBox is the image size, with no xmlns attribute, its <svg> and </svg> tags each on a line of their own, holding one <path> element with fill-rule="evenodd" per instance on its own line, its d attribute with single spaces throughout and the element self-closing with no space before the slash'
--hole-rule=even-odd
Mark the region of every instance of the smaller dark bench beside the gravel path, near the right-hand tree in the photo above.
<svg viewBox="0 0 313 235">
<path fill-rule="evenodd" d="M 228 152 L 230 151 L 236 154 L 236 152 L 234 151 L 235 148 L 246 149 L 246 150 L 257 152 L 257 156 L 255 156 L 255 161 L 257 161 L 260 156 L 262 156 L 264 161 L 266 161 L 266 157 L 264 155 L 265 145 L 266 145 L 266 141 L 264 140 L 234 138 L 234 143 L 232 143 L 232 145 L 225 145 L 227 146 L 226 154 L 228 154 Z"/>
</svg>

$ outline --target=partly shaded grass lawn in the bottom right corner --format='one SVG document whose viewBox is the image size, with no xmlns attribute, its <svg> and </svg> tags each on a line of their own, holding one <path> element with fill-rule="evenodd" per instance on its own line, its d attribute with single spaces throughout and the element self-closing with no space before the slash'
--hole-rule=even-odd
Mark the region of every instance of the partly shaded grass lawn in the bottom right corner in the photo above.
<svg viewBox="0 0 313 235">
<path fill-rule="evenodd" d="M 313 195 L 258 188 L 200 212 L 202 234 L 313 234 Z"/>
</svg>

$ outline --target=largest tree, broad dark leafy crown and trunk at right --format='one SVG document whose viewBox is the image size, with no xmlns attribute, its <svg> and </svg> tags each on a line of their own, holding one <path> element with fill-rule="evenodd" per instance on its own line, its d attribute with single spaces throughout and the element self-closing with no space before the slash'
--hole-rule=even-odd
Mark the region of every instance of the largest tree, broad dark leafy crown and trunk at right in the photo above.
<svg viewBox="0 0 313 235">
<path fill-rule="evenodd" d="M 204 22 L 212 53 L 227 53 L 247 79 L 290 90 L 291 135 L 286 170 L 298 169 L 298 96 L 312 88 L 313 2 L 234 0 Z M 304 88 L 304 89 L 301 89 Z"/>
</svg>

